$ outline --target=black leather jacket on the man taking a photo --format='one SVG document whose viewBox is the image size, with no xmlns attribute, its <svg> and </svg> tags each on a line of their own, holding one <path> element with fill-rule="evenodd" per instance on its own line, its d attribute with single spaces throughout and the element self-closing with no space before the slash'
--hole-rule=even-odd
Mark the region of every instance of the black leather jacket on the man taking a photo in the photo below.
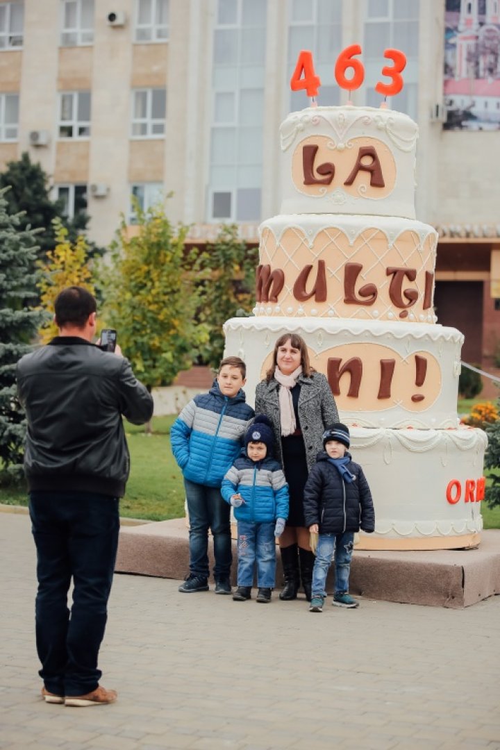
<svg viewBox="0 0 500 750">
<path fill-rule="evenodd" d="M 121 415 L 142 425 L 153 414 L 127 359 L 56 336 L 17 363 L 17 395 L 28 419 L 30 490 L 124 495 L 130 457 Z"/>
</svg>

